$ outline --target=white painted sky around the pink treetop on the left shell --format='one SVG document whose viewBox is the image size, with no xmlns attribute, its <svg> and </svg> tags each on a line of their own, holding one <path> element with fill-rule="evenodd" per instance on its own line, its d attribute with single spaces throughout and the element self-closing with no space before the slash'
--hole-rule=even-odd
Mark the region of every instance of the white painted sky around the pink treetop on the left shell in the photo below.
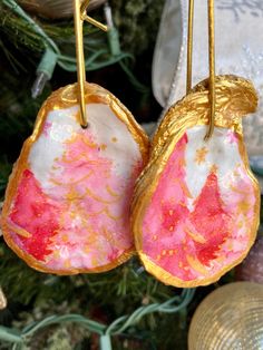
<svg viewBox="0 0 263 350">
<path fill-rule="evenodd" d="M 142 155 L 127 125 L 108 105 L 89 104 L 86 108 L 89 123 L 87 130 L 91 133 L 96 144 L 107 146 L 101 148 L 101 156 L 113 161 L 116 175 L 128 178 Z M 29 164 L 43 189 L 50 186 L 48 179 L 55 159 L 64 155 L 65 144 L 81 128 L 77 119 L 78 110 L 79 107 L 74 106 L 50 111 L 42 134 L 31 147 Z"/>
</svg>

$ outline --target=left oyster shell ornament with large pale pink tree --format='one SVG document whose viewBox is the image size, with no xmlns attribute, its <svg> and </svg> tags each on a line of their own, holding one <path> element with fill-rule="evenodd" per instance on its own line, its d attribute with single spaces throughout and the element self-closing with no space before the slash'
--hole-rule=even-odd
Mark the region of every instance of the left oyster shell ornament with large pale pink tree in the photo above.
<svg viewBox="0 0 263 350">
<path fill-rule="evenodd" d="M 86 85 L 89 127 L 76 86 L 53 93 L 14 165 L 2 210 L 8 245 L 58 274 L 107 271 L 134 253 L 129 205 L 148 139 L 104 88 Z"/>
</svg>

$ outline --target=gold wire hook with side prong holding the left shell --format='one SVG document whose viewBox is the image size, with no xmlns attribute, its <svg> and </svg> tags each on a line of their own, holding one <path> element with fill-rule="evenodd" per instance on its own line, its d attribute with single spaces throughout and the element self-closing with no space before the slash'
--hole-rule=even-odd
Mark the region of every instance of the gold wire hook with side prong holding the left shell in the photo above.
<svg viewBox="0 0 263 350">
<path fill-rule="evenodd" d="M 85 82 L 86 82 L 86 68 L 84 57 L 84 21 L 103 29 L 108 30 L 107 26 L 96 21 L 87 16 L 86 10 L 89 0 L 74 1 L 74 20 L 75 20 L 75 35 L 76 35 L 76 55 L 77 55 L 77 75 L 78 75 L 78 103 L 80 105 L 80 125 L 86 128 L 88 126 L 86 101 L 85 101 Z"/>
</svg>

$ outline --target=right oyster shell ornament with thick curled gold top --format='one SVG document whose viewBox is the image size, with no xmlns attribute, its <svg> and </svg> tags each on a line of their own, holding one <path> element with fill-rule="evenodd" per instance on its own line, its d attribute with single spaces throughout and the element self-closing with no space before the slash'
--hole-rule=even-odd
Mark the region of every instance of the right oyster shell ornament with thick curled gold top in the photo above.
<svg viewBox="0 0 263 350">
<path fill-rule="evenodd" d="M 215 129 L 208 124 L 208 80 L 167 111 L 139 177 L 132 210 L 136 249 L 146 270 L 182 288 L 217 281 L 252 246 L 259 225 L 260 189 L 242 135 L 253 113 L 252 84 L 216 77 Z"/>
</svg>

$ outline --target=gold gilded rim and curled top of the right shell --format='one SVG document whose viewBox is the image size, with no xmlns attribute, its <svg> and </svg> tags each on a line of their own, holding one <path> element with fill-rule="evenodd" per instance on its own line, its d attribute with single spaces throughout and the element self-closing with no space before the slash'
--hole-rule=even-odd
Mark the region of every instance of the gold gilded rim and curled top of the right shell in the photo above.
<svg viewBox="0 0 263 350">
<path fill-rule="evenodd" d="M 238 88 L 238 84 L 241 87 Z M 226 108 L 228 106 L 227 99 L 224 98 L 224 94 L 222 88 L 226 86 L 227 90 L 224 90 L 224 94 L 228 94 L 228 99 L 234 96 L 235 103 L 240 98 L 241 94 L 245 95 L 245 99 L 242 98 L 243 109 L 235 110 L 235 117 L 233 119 L 228 119 L 227 123 L 223 120 L 223 118 L 218 118 L 218 114 L 223 111 L 223 115 L 228 111 Z M 236 88 L 238 94 L 232 94 L 231 87 Z M 218 89 L 222 95 L 218 95 Z M 145 211 L 148 206 L 148 203 L 157 187 L 159 177 L 164 171 L 165 164 L 167 163 L 172 152 L 176 147 L 177 142 L 182 138 L 186 129 L 195 126 L 195 125 L 207 125 L 208 124 L 208 91 L 207 91 L 207 79 L 198 84 L 186 97 L 184 97 L 181 101 L 172 106 L 167 114 L 165 115 L 163 121 L 160 123 L 154 139 L 153 139 L 153 148 L 150 153 L 150 159 L 142 175 L 139 176 L 134 198 L 132 203 L 132 227 L 135 235 L 135 246 L 138 252 L 138 255 L 146 269 L 149 273 L 155 275 L 157 279 L 163 281 L 165 284 L 171 284 L 178 288 L 194 288 L 197 285 L 207 285 L 213 282 L 216 282 L 222 275 L 224 275 L 227 271 L 240 264 L 244 257 L 247 255 L 251 246 L 253 245 L 256 231 L 260 224 L 260 187 L 256 178 L 252 174 L 250 169 L 249 158 L 245 149 L 245 145 L 243 142 L 242 134 L 242 125 L 241 117 L 245 113 L 252 113 L 255 110 L 257 105 L 257 96 L 253 85 L 243 78 L 238 78 L 235 76 L 218 76 L 216 78 L 216 113 L 217 119 L 215 125 L 218 127 L 228 127 L 234 129 L 238 136 L 238 149 L 244 161 L 245 169 L 247 176 L 251 178 L 254 195 L 255 195 L 255 205 L 254 205 L 254 222 L 250 232 L 250 241 L 247 244 L 246 251 L 240 256 L 238 260 L 233 262 L 232 264 L 222 269 L 218 273 L 213 276 L 206 279 L 197 279 L 193 281 L 183 281 L 178 278 L 173 276 L 167 271 L 163 270 L 158 265 L 156 265 L 144 252 L 143 252 L 143 218 Z M 196 107 L 196 104 L 201 108 Z M 222 106 L 222 105 L 223 106 Z M 235 106 L 234 104 L 234 107 Z M 194 109 L 193 109 L 194 108 Z M 206 111 L 205 111 L 206 109 Z M 199 115 L 201 113 L 201 115 Z M 182 115 L 184 115 L 184 120 L 182 120 Z M 187 115 L 187 117 L 186 117 Z M 230 120 L 232 123 L 230 123 Z M 169 129 L 171 128 L 171 129 Z"/>
</svg>

